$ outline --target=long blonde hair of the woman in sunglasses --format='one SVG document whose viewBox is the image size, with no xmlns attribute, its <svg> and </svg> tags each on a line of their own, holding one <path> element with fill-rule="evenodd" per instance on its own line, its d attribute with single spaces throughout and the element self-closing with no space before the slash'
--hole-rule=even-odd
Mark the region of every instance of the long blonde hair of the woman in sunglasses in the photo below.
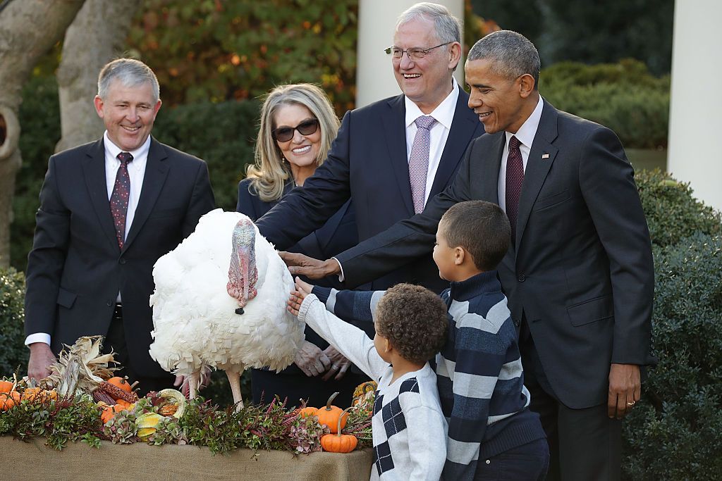
<svg viewBox="0 0 722 481">
<path fill-rule="evenodd" d="M 331 149 L 331 142 L 339 131 L 339 118 L 329 97 L 313 84 L 280 85 L 269 92 L 261 107 L 261 125 L 256 138 L 255 163 L 248 165 L 245 175 L 251 179 L 251 186 L 258 198 L 264 202 L 279 200 L 283 195 L 285 182 L 291 176 L 290 164 L 281 155 L 281 149 L 271 135 L 276 125 L 274 118 L 283 105 L 303 105 L 318 119 L 321 128 L 321 148 L 318 149 L 316 167 L 323 164 Z M 249 188 L 250 188 L 249 187 Z"/>
</svg>

